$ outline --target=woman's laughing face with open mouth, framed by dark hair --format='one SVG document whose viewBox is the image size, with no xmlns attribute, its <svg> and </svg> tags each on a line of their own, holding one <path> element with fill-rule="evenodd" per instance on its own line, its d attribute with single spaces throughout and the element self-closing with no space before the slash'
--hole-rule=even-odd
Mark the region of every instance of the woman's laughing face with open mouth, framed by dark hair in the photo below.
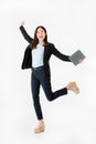
<svg viewBox="0 0 96 144">
<path fill-rule="evenodd" d="M 45 35 L 46 35 L 45 31 L 42 28 L 39 28 L 36 31 L 36 37 L 40 42 L 44 41 Z"/>
</svg>

